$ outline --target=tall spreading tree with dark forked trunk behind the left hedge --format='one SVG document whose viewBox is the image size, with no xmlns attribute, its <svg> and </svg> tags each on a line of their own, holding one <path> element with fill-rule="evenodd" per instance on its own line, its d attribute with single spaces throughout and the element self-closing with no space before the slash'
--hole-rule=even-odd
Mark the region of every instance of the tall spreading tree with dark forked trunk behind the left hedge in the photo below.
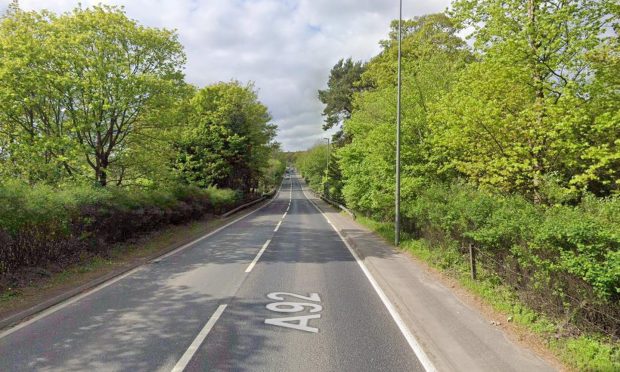
<svg viewBox="0 0 620 372">
<path fill-rule="evenodd" d="M 172 31 L 146 28 L 117 8 L 76 9 L 58 22 L 70 90 L 66 115 L 97 182 L 105 186 L 131 137 L 162 123 L 183 88 L 183 47 Z M 150 119 L 150 120 L 147 120 Z"/>
</svg>

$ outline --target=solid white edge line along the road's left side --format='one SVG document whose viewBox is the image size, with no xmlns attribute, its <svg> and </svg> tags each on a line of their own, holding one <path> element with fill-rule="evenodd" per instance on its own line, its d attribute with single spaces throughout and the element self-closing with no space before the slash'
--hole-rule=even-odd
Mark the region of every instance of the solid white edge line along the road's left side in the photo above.
<svg viewBox="0 0 620 372">
<path fill-rule="evenodd" d="M 175 249 L 175 250 L 173 250 L 171 252 L 168 252 L 168 253 L 166 253 L 163 256 L 159 256 L 159 257 L 153 259 L 152 261 L 147 262 L 145 265 L 147 265 L 149 263 L 153 263 L 153 262 L 160 262 L 163 259 L 168 258 L 168 257 L 170 257 L 172 255 L 175 255 L 175 254 L 181 252 L 182 250 L 187 249 L 187 248 L 191 247 L 192 245 L 194 245 L 194 244 L 196 244 L 196 243 L 198 243 L 198 242 L 200 242 L 200 241 L 202 241 L 202 240 L 212 236 L 213 234 L 216 234 L 216 233 L 220 232 L 221 230 L 227 228 L 228 226 L 230 226 L 230 225 L 232 225 L 232 224 L 234 224 L 236 222 L 239 222 L 239 221 L 241 221 L 242 219 L 244 219 L 246 217 L 249 217 L 249 216 L 253 215 L 254 213 L 260 211 L 261 209 L 263 209 L 263 208 L 267 207 L 268 205 L 270 205 L 271 203 L 273 203 L 277 199 L 277 195 L 280 194 L 280 190 L 282 190 L 282 184 L 280 184 L 280 187 L 278 189 L 278 193 L 273 197 L 273 199 L 271 199 L 268 203 L 266 203 L 265 205 L 261 206 L 260 208 L 257 208 L 255 210 L 249 212 L 249 213 L 246 213 L 243 216 L 241 216 L 241 217 L 239 217 L 239 218 L 237 218 L 237 219 L 235 219 L 233 221 L 230 221 L 226 225 L 221 226 L 221 227 L 211 231 L 210 233 L 208 233 L 206 235 L 203 235 L 200 238 L 198 238 L 196 240 L 193 240 L 193 241 L 191 241 L 191 242 L 189 242 L 189 243 L 187 243 L 187 244 L 185 244 L 185 245 L 183 245 L 183 246 L 181 246 L 181 247 L 179 247 L 179 248 L 177 248 L 177 249 Z M 145 267 L 145 265 L 138 266 L 135 269 L 132 269 L 132 270 L 130 270 L 130 271 L 124 273 L 124 274 L 121 274 L 121 275 L 119 275 L 119 276 L 117 276 L 117 277 L 115 277 L 115 278 L 113 278 L 113 279 L 111 279 L 111 280 L 109 280 L 109 281 L 107 281 L 105 283 L 102 283 L 102 284 L 100 284 L 100 285 L 98 285 L 98 286 L 88 290 L 87 292 L 84 292 L 84 293 L 79 294 L 77 296 L 71 297 L 71 298 L 67 299 L 66 301 L 63 301 L 63 302 L 61 302 L 61 303 L 59 303 L 57 305 L 54 305 L 54 306 L 52 306 L 52 307 L 50 307 L 50 308 L 48 308 L 46 310 L 43 310 L 38 315 L 35 315 L 34 317 L 30 318 L 29 320 L 27 320 L 25 322 L 22 322 L 22 323 L 19 323 L 19 324 L 13 326 L 13 327 L 11 327 L 11 328 L 1 332 L 0 333 L 0 339 L 10 335 L 11 333 L 14 333 L 14 332 L 18 331 L 18 330 L 20 330 L 20 329 L 22 329 L 24 327 L 29 326 L 32 323 L 34 323 L 34 322 L 36 322 L 38 320 L 41 320 L 41 319 L 43 319 L 43 318 L 45 318 L 45 317 L 55 313 L 58 310 L 62 310 L 65 307 L 78 302 L 79 300 L 83 299 L 84 297 L 90 296 L 93 293 L 98 292 L 98 291 L 100 291 L 100 290 L 102 290 L 102 289 L 104 289 L 104 288 L 106 288 L 106 287 L 108 287 L 108 286 L 118 282 L 119 280 L 122 280 L 122 279 L 128 277 L 129 275 L 135 273 L 136 271 L 138 271 L 140 269 L 143 269 Z"/>
</svg>

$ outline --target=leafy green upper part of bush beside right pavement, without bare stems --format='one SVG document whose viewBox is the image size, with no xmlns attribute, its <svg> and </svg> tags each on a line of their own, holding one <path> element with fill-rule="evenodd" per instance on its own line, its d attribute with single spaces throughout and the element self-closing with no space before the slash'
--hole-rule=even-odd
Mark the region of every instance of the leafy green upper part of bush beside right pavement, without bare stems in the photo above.
<svg viewBox="0 0 620 372">
<path fill-rule="evenodd" d="M 596 200 L 577 206 L 543 208 L 520 196 L 486 193 L 467 185 L 432 184 L 409 201 L 403 215 L 416 224 L 418 235 L 433 235 L 473 243 L 503 259 L 512 256 L 526 272 L 542 278 L 578 278 L 579 289 L 555 283 L 556 295 L 572 291 L 580 298 L 606 304 L 620 300 L 620 199 Z M 614 211 L 611 212 L 610 211 Z M 544 274 L 544 275 L 541 275 Z M 590 293 L 581 293 L 582 291 Z"/>
</svg>

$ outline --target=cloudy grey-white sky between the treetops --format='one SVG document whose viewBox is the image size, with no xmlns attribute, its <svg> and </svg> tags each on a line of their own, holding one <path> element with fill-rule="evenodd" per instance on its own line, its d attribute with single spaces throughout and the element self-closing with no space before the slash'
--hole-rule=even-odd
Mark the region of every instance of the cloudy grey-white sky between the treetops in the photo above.
<svg viewBox="0 0 620 372">
<path fill-rule="evenodd" d="M 10 0 L 0 0 L 4 12 Z M 254 81 L 279 127 L 285 150 L 324 137 L 317 90 L 340 59 L 379 52 L 398 0 L 81 0 L 123 5 L 141 23 L 176 29 L 187 80 L 198 86 Z M 404 0 L 403 16 L 444 10 L 449 0 Z M 77 0 L 20 0 L 24 9 L 71 10 Z"/>
</svg>

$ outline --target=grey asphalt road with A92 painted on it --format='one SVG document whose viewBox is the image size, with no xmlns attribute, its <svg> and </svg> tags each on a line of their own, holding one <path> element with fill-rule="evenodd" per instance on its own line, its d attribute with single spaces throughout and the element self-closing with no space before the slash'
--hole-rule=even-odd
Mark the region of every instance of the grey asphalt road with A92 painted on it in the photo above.
<svg viewBox="0 0 620 372">
<path fill-rule="evenodd" d="M 0 371 L 423 371 L 368 275 L 285 179 L 252 214 L 0 333 Z"/>
</svg>

